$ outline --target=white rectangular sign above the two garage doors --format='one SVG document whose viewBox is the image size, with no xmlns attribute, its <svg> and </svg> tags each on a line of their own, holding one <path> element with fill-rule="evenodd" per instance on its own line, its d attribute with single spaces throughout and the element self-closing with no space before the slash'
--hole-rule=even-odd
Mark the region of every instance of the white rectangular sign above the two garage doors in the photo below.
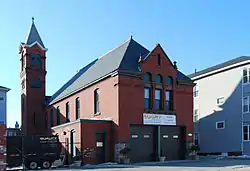
<svg viewBox="0 0 250 171">
<path fill-rule="evenodd" d="M 143 114 L 144 125 L 176 125 L 175 115 Z"/>
</svg>

